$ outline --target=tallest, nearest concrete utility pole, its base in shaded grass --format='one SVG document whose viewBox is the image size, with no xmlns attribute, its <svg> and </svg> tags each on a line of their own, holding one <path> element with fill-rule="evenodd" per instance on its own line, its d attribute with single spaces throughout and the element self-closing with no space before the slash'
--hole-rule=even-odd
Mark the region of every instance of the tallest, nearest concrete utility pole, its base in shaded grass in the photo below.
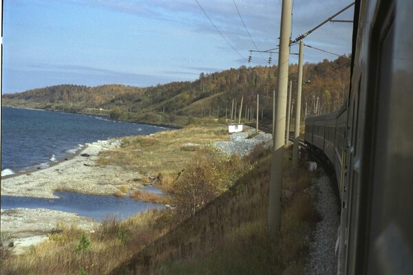
<svg viewBox="0 0 413 275">
<path fill-rule="evenodd" d="M 277 109 L 273 129 L 271 157 L 270 197 L 268 201 L 268 231 L 276 237 L 281 225 L 281 195 L 284 168 L 284 143 L 286 133 L 286 104 L 288 89 L 288 63 L 290 54 L 291 0 L 282 1 L 279 35 Z"/>
</svg>

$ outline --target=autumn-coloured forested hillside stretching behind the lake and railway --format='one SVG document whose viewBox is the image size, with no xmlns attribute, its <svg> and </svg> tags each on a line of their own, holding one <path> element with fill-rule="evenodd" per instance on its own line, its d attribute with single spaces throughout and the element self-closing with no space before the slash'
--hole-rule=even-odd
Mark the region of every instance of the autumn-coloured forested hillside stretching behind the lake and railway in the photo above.
<svg viewBox="0 0 413 275">
<path fill-rule="evenodd" d="M 298 65 L 290 65 L 293 102 L 297 93 L 297 70 Z M 350 59 L 339 57 L 335 61 L 306 63 L 303 81 L 303 115 L 337 110 L 348 95 Z M 241 66 L 212 74 L 202 73 L 193 82 L 156 87 L 58 85 L 32 89 L 17 94 L 3 94 L 2 104 L 110 115 L 114 119 L 138 122 L 185 124 L 200 117 L 230 118 L 235 105 L 239 110 L 242 97 L 244 120 L 246 116 L 251 117 L 252 109 L 256 108 L 257 94 L 260 94 L 260 116 L 270 120 L 276 86 L 277 66 Z M 246 113 L 246 110 L 250 111 Z"/>
</svg>

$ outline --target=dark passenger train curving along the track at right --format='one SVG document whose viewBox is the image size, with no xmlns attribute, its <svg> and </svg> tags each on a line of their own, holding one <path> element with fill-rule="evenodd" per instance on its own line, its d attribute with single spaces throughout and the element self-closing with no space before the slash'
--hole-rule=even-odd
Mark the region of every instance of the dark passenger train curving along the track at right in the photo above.
<svg viewBox="0 0 413 275">
<path fill-rule="evenodd" d="M 413 274 L 412 11 L 405 0 L 354 5 L 350 96 L 335 118 L 337 274 Z M 306 120 L 306 142 L 326 154 L 330 122 Z"/>
</svg>

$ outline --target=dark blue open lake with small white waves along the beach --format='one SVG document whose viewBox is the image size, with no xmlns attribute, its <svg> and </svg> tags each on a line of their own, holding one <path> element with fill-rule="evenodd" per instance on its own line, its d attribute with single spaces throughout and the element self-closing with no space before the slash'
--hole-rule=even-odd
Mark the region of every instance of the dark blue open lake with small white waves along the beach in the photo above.
<svg viewBox="0 0 413 275">
<path fill-rule="evenodd" d="M 45 168 L 85 143 L 165 129 L 93 115 L 1 107 L 1 175 Z"/>
</svg>

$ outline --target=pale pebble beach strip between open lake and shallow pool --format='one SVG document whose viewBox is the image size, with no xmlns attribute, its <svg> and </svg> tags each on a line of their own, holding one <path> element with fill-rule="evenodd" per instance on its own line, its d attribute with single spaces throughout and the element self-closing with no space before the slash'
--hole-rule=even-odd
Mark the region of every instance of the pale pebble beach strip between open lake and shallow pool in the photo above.
<svg viewBox="0 0 413 275">
<path fill-rule="evenodd" d="M 53 199 L 56 190 L 92 195 L 112 195 L 117 186 L 136 183 L 140 175 L 119 166 L 98 165 L 98 153 L 119 146 L 120 142 L 99 141 L 56 165 L 1 180 L 1 195 Z"/>
</svg>

